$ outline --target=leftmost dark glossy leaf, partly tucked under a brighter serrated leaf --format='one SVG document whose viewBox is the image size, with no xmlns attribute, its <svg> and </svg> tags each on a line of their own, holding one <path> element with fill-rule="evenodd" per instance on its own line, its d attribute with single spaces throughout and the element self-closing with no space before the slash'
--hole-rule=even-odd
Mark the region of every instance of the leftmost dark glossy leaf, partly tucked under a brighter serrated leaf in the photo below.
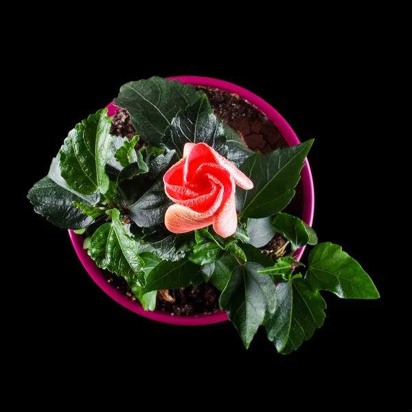
<svg viewBox="0 0 412 412">
<path fill-rule="evenodd" d="M 34 211 L 54 225 L 62 229 L 82 229 L 90 225 L 93 218 L 83 214 L 73 202 L 91 207 L 98 203 L 100 194 L 85 195 L 71 189 L 60 175 L 59 157 L 53 159 L 49 174 L 30 189 L 27 197 Z"/>
</svg>

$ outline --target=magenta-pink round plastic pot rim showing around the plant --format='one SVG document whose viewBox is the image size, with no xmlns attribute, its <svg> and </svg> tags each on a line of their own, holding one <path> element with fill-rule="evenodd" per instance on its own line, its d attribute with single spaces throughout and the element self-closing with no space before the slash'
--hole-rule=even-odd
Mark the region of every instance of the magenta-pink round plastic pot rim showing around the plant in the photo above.
<svg viewBox="0 0 412 412">
<path fill-rule="evenodd" d="M 279 128 L 280 133 L 286 139 L 290 146 L 299 144 L 300 141 L 295 135 L 292 128 L 286 123 L 286 120 L 275 111 L 275 109 L 264 100 L 262 100 L 257 95 L 251 93 L 249 90 L 243 89 L 242 87 L 236 86 L 229 82 L 223 80 L 217 80 L 212 78 L 198 77 L 198 76 L 177 76 L 173 78 L 168 78 L 169 80 L 179 80 L 182 83 L 190 83 L 194 86 L 208 86 L 214 87 L 216 89 L 221 89 L 228 91 L 229 93 L 236 93 L 240 95 L 241 98 L 247 100 L 249 103 L 253 104 L 258 108 L 259 111 L 264 113 L 268 119 Z M 112 116 L 120 109 L 117 106 L 108 104 L 108 115 Z M 304 186 L 304 205 L 303 205 L 303 219 L 308 225 L 312 225 L 313 213 L 314 213 L 314 190 L 313 190 L 313 180 L 312 173 L 310 172 L 310 167 L 308 159 L 305 160 L 304 168 L 301 171 L 301 179 Z M 69 236 L 71 243 L 73 244 L 74 250 L 76 251 L 80 262 L 82 262 L 87 273 L 91 278 L 100 286 L 100 288 L 112 299 L 117 301 L 119 304 L 128 308 L 132 312 L 140 314 L 141 316 L 153 319 L 155 321 L 163 323 L 172 323 L 174 325 L 208 325 L 211 323 L 218 323 L 222 321 L 227 321 L 226 312 L 215 312 L 210 314 L 199 314 L 196 316 L 181 316 L 175 317 L 168 313 L 160 312 L 155 310 L 154 312 L 144 310 L 138 301 L 132 301 L 124 296 L 119 290 L 113 288 L 111 284 L 107 282 L 106 277 L 100 271 L 100 268 L 96 266 L 95 262 L 87 254 L 87 251 L 83 249 L 83 238 L 80 235 L 76 235 L 73 231 L 69 230 Z M 297 260 L 301 258 L 304 253 L 304 247 L 297 251 Z"/>
</svg>

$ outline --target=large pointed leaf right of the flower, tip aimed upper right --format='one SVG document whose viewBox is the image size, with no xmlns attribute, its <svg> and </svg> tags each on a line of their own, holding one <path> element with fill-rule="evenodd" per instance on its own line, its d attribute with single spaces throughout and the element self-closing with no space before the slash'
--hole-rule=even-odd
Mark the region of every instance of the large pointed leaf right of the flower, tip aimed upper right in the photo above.
<svg viewBox="0 0 412 412">
<path fill-rule="evenodd" d="M 240 170 L 253 181 L 253 189 L 236 188 L 236 207 L 240 216 L 266 218 L 288 205 L 295 195 L 295 186 L 313 140 L 263 156 L 255 152 Z"/>
</svg>

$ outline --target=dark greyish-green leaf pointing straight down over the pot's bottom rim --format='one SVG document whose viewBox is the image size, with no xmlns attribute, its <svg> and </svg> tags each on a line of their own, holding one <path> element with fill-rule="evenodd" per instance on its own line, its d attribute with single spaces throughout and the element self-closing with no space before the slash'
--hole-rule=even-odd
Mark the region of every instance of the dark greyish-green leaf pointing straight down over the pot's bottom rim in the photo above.
<svg viewBox="0 0 412 412">
<path fill-rule="evenodd" d="M 246 348 L 262 325 L 267 314 L 273 314 L 276 306 L 276 287 L 268 276 L 260 275 L 262 268 L 256 263 L 237 266 L 222 295 L 220 308 L 227 311 Z"/>
</svg>

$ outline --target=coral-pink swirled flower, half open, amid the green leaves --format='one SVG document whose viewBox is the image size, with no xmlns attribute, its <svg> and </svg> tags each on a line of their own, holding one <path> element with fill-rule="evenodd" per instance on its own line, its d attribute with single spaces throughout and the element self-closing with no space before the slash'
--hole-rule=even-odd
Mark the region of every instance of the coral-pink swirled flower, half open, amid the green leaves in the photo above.
<svg viewBox="0 0 412 412">
<path fill-rule="evenodd" d="M 247 176 L 205 143 L 185 144 L 183 159 L 165 173 L 163 182 L 175 203 L 165 215 L 170 231 L 185 233 L 213 225 L 223 238 L 238 227 L 236 185 L 247 190 L 253 187 Z"/>
</svg>

